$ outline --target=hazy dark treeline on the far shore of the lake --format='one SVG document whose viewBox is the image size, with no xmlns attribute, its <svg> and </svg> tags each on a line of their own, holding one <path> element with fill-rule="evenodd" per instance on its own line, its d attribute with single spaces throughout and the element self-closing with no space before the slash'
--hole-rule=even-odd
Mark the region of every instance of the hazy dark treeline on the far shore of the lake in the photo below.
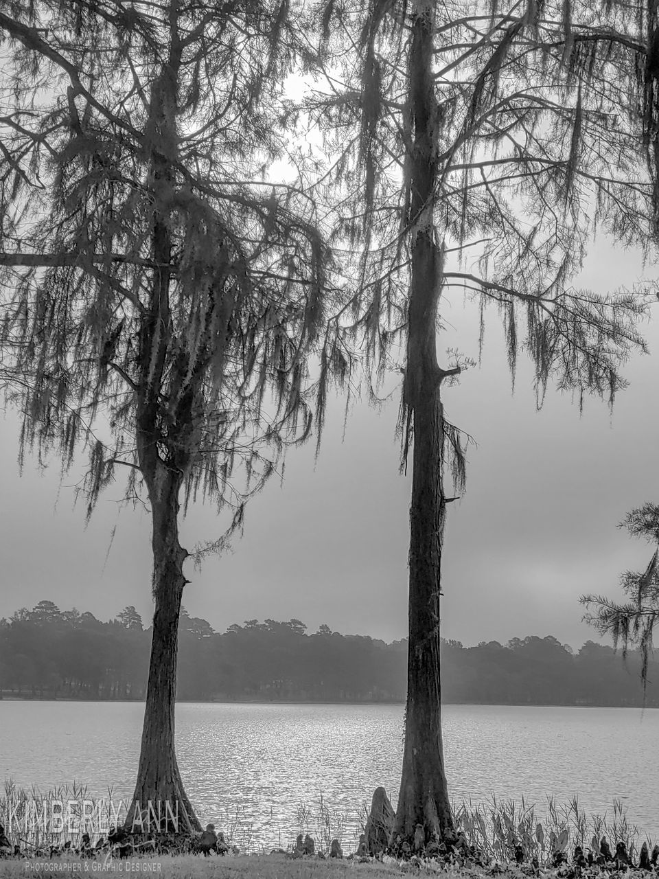
<svg viewBox="0 0 659 879">
<path fill-rule="evenodd" d="M 142 699 L 151 633 L 126 607 L 101 622 L 50 601 L 0 620 L 4 697 Z M 181 700 L 404 701 L 407 642 L 340 635 L 300 620 L 245 621 L 223 634 L 182 614 Z M 578 653 L 552 636 L 463 647 L 442 641 L 445 702 L 640 706 L 641 660 L 588 641 Z M 659 707 L 659 663 L 650 663 L 646 705 Z"/>
</svg>

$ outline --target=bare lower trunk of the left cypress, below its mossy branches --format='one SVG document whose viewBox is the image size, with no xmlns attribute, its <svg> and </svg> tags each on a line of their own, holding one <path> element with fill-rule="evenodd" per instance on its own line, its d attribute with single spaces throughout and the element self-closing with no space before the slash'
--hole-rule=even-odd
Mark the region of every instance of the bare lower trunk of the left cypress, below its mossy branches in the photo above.
<svg viewBox="0 0 659 879">
<path fill-rule="evenodd" d="M 147 701 L 141 736 L 137 784 L 126 826 L 139 831 L 156 829 L 191 832 L 201 830 L 199 820 L 185 795 L 174 749 L 178 618 L 185 576 L 187 552 L 178 542 L 178 491 L 180 476 L 160 462 L 156 479 L 148 483 L 151 500 L 154 556 L 153 618 L 151 658 L 148 668 Z"/>
</svg>

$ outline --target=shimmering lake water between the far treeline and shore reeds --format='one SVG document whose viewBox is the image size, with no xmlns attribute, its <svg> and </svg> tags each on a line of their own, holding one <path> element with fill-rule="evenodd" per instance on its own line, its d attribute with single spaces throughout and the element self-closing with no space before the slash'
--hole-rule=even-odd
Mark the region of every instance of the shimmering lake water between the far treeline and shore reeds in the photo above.
<svg viewBox="0 0 659 879">
<path fill-rule="evenodd" d="M 132 794 L 143 705 L 134 702 L 0 701 L 0 781 L 42 792 L 80 782 L 95 796 Z M 567 803 L 612 815 L 619 798 L 641 831 L 659 835 L 659 709 L 450 705 L 445 761 L 455 800 Z M 350 844 L 358 808 L 384 785 L 395 805 L 402 706 L 177 706 L 178 763 L 202 823 L 239 844 L 286 846 L 298 807 L 319 795 L 345 811 Z M 279 836 L 279 833 L 281 836 Z"/>
</svg>

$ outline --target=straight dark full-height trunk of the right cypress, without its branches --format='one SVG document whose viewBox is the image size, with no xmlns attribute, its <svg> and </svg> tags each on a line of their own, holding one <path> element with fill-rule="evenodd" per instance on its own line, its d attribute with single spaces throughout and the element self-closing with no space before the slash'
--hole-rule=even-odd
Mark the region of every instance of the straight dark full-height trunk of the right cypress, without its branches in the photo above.
<svg viewBox="0 0 659 879">
<path fill-rule="evenodd" d="M 407 439 L 413 442 L 409 536 L 408 696 L 394 848 L 415 850 L 453 838 L 442 748 L 439 681 L 439 582 L 445 499 L 442 490 L 443 412 L 437 360 L 437 309 L 443 254 L 433 223 L 438 178 L 438 103 L 432 77 L 434 7 L 412 12 L 409 103 L 411 152 L 411 284 L 408 352 L 403 384 Z M 453 371 L 455 372 L 455 370 Z M 418 825 L 423 828 L 421 834 Z M 398 839 L 400 838 L 400 839 Z"/>
</svg>

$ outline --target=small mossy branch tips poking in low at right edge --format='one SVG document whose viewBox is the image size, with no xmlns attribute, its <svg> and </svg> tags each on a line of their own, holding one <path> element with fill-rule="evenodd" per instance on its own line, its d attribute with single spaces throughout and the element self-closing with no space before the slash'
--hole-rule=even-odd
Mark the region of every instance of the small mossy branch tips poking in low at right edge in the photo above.
<svg viewBox="0 0 659 879">
<path fill-rule="evenodd" d="M 623 658 L 630 645 L 641 650 L 641 679 L 645 688 L 652 636 L 659 620 L 659 505 L 647 503 L 628 512 L 620 527 L 626 527 L 633 537 L 644 537 L 655 544 L 648 567 L 643 573 L 626 570 L 620 577 L 628 599 L 625 603 L 603 595 L 583 595 L 580 600 L 586 607 L 594 608 L 593 613 L 585 614 L 583 619 L 597 628 L 600 635 L 611 635 L 616 649 L 622 643 Z"/>
</svg>

